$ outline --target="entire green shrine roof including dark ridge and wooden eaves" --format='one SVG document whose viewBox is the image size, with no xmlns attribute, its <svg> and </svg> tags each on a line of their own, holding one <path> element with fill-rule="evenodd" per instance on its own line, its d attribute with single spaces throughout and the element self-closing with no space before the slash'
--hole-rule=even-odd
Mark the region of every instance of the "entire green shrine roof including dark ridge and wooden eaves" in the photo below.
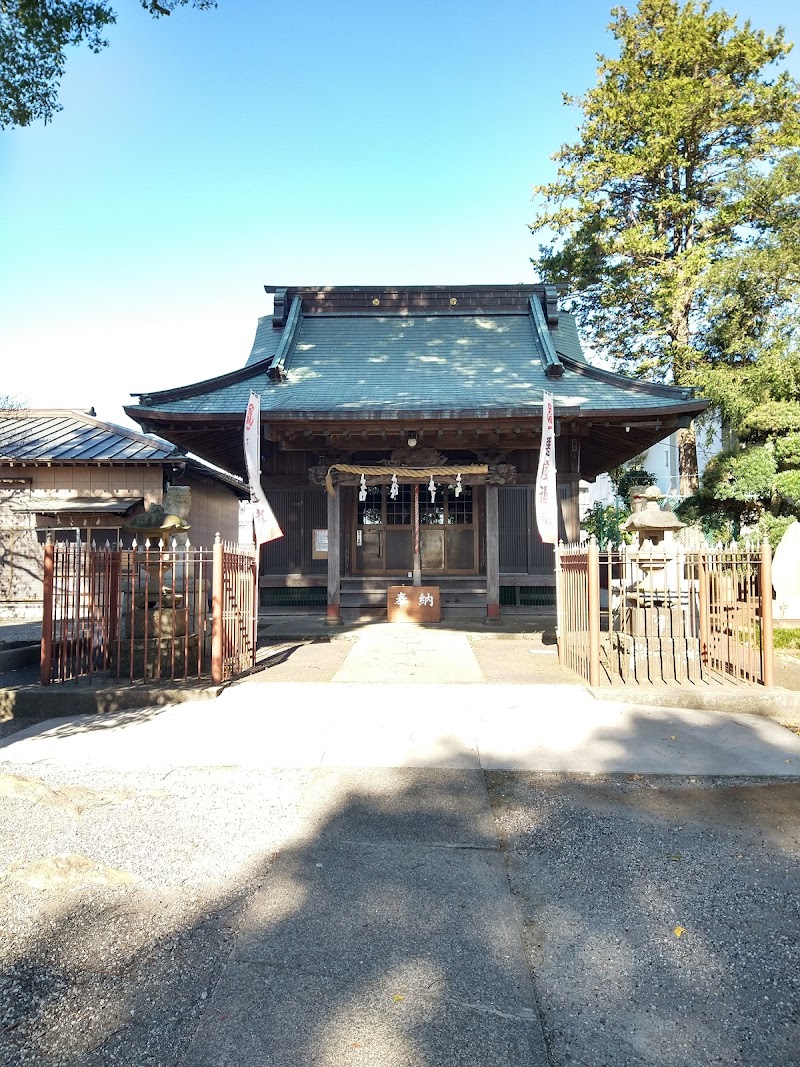
<svg viewBox="0 0 800 1067">
<path fill-rule="evenodd" d="M 241 469 L 251 389 L 268 441 L 318 453 L 348 450 L 348 440 L 352 450 L 355 437 L 380 448 L 403 426 L 435 433 L 437 447 L 474 449 L 489 432 L 505 433 L 507 449 L 535 447 L 546 391 L 559 425 L 587 446 L 581 472 L 592 477 L 706 408 L 691 389 L 587 363 L 553 286 L 265 288 L 274 312 L 259 319 L 243 367 L 134 394 L 140 402 L 127 414 Z M 458 440 L 447 445 L 448 434 Z"/>
</svg>

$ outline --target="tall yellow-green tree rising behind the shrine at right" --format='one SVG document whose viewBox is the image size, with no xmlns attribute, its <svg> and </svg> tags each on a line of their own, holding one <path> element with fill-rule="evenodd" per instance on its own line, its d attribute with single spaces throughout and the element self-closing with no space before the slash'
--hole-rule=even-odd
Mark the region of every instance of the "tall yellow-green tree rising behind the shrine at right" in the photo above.
<svg viewBox="0 0 800 1067">
<path fill-rule="evenodd" d="M 535 189 L 533 262 L 566 284 L 596 350 L 694 385 L 709 361 L 752 355 L 793 305 L 779 249 L 790 257 L 800 87 L 778 68 L 791 45 L 692 0 L 615 7 L 609 29 L 619 54 L 565 98 L 579 139 Z"/>
</svg>

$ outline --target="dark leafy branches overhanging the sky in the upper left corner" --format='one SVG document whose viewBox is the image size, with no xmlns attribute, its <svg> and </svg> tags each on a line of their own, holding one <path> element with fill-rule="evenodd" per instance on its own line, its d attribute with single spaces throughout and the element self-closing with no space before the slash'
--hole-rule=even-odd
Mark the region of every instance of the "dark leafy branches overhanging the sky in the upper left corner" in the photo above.
<svg viewBox="0 0 800 1067">
<path fill-rule="evenodd" d="M 140 0 L 155 18 L 190 0 Z M 215 0 L 191 0 L 214 7 Z M 49 122 L 59 103 L 67 49 L 99 52 L 116 15 L 106 0 L 0 0 L 0 128 Z"/>
</svg>

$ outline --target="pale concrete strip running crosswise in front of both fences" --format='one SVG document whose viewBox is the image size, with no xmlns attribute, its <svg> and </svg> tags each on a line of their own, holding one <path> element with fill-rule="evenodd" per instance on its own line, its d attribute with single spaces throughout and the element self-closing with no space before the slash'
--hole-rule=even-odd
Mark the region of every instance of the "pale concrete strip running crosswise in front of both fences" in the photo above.
<svg viewBox="0 0 800 1067">
<path fill-rule="evenodd" d="M 800 737 L 752 715 L 595 701 L 580 686 L 277 683 L 50 719 L 0 742 L 4 761 L 794 776 Z"/>
</svg>

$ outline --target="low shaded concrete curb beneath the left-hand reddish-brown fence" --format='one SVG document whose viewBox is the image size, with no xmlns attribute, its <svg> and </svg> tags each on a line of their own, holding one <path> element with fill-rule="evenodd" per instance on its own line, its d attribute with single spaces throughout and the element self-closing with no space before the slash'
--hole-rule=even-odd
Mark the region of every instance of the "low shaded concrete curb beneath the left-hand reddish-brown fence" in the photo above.
<svg viewBox="0 0 800 1067">
<path fill-rule="evenodd" d="M 69 686 L 68 683 L 58 687 L 0 689 L 0 722 L 29 716 L 58 718 L 107 714 L 131 707 L 161 707 L 190 700 L 214 700 L 222 690 L 221 685 L 185 688 L 129 685 L 112 689 Z"/>
</svg>

